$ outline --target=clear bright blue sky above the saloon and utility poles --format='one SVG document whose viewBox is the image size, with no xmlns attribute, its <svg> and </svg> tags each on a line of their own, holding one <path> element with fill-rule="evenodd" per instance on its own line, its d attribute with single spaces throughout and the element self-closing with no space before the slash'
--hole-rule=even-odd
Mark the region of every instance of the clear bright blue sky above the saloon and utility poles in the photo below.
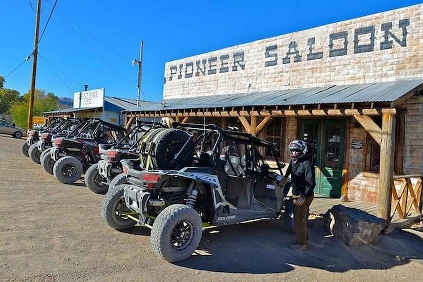
<svg viewBox="0 0 423 282">
<path fill-rule="evenodd" d="M 55 0 L 42 0 L 43 30 Z M 142 100 L 161 100 L 164 64 L 237 44 L 419 4 L 422 0 L 58 0 L 39 43 L 36 87 L 60 97 L 105 88 L 136 99 L 144 40 Z M 36 0 L 0 0 L 0 75 L 33 50 Z M 32 59 L 6 77 L 30 88 Z"/>
</svg>

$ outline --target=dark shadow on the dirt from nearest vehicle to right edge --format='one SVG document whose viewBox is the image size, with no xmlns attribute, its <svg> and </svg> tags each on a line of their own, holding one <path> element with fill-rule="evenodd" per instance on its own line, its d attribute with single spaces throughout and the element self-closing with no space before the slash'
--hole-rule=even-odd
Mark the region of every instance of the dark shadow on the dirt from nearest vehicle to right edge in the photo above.
<svg viewBox="0 0 423 282">
<path fill-rule="evenodd" d="M 176 264 L 198 270 L 266 274 L 289 272 L 296 266 L 330 272 L 378 270 L 423 260 L 423 241 L 403 232 L 381 236 L 372 245 L 345 246 L 325 234 L 323 219 L 309 223 L 311 246 L 307 250 L 289 248 L 294 234 L 283 229 L 282 221 L 262 220 L 204 230 L 195 254 Z"/>
</svg>

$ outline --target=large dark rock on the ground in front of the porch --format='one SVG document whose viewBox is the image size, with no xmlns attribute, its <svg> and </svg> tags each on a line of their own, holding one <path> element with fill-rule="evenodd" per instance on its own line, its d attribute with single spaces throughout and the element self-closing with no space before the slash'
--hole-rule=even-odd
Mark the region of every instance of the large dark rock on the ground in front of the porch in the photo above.
<svg viewBox="0 0 423 282">
<path fill-rule="evenodd" d="M 335 205 L 324 216 L 325 228 L 345 245 L 372 243 L 386 227 L 384 219 L 365 211 Z"/>
</svg>

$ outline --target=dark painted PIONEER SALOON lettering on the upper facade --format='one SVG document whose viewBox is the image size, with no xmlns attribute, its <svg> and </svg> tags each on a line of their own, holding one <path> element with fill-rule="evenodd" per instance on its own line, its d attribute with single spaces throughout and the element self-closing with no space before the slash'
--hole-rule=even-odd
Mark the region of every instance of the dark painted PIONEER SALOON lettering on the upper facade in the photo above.
<svg viewBox="0 0 423 282">
<path fill-rule="evenodd" d="M 266 46 L 263 51 L 263 67 L 272 67 L 279 64 L 299 63 L 322 59 L 324 56 L 339 57 L 348 55 L 351 49 L 353 54 L 373 52 L 375 50 L 392 49 L 394 41 L 400 47 L 407 46 L 407 26 L 410 19 L 398 21 L 398 28 L 393 22 L 385 22 L 380 25 L 381 35 L 376 38 L 376 26 L 356 28 L 351 34 L 348 30 L 329 34 L 327 38 L 327 51 L 315 48 L 317 39 L 310 37 L 305 42 L 290 41 L 289 44 L 272 44 Z M 350 47 L 352 44 L 352 48 Z M 350 51 L 351 52 L 351 51 Z M 245 70 L 248 62 L 245 61 L 245 51 L 237 51 L 222 55 L 215 55 L 195 61 L 171 65 L 167 81 L 179 80 L 182 78 L 193 78 L 219 73 L 228 73 Z"/>
</svg>

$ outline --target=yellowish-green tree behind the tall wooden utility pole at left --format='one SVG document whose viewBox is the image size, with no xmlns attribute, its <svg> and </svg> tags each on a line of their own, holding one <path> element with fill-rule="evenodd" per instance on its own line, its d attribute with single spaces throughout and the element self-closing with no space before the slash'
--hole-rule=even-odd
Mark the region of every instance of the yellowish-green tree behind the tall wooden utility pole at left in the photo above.
<svg viewBox="0 0 423 282">
<path fill-rule="evenodd" d="M 59 107 L 59 98 L 54 93 L 45 93 L 45 90 L 35 89 L 34 94 L 34 116 L 42 116 L 42 113 L 54 111 Z M 10 115 L 13 121 L 20 127 L 28 125 L 29 92 L 24 94 L 22 99 L 16 101 L 11 109 Z"/>
</svg>

